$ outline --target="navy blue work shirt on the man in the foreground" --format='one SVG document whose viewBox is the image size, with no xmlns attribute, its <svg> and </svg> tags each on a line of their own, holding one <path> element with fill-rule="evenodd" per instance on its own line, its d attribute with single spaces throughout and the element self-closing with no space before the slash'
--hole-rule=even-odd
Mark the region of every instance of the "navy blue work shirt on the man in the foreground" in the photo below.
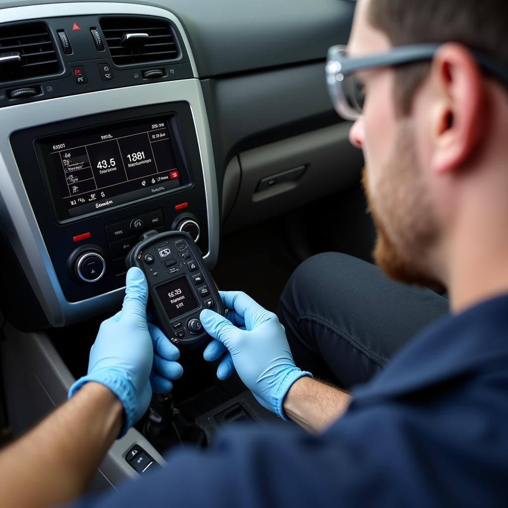
<svg viewBox="0 0 508 508">
<path fill-rule="evenodd" d="M 420 334 L 320 436 L 232 428 L 78 506 L 508 506 L 508 296 Z"/>
</svg>

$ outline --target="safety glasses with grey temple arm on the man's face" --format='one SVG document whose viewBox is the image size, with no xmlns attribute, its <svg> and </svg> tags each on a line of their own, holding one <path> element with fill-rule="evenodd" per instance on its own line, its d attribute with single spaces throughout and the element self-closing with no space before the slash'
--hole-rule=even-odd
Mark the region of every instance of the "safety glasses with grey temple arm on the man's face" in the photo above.
<svg viewBox="0 0 508 508">
<path fill-rule="evenodd" d="M 365 93 L 355 73 L 432 60 L 439 46 L 441 44 L 397 46 L 387 53 L 357 58 L 348 56 L 345 46 L 332 46 L 328 50 L 326 79 L 335 110 L 345 120 L 355 121 L 362 116 Z M 476 51 L 471 54 L 484 71 L 508 85 L 508 69 L 485 54 Z"/>
</svg>

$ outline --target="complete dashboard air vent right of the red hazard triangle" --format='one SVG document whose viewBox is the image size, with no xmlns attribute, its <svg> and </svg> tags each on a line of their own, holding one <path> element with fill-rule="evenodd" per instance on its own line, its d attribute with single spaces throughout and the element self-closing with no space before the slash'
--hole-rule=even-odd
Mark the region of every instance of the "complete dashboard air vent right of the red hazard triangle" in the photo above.
<svg viewBox="0 0 508 508">
<path fill-rule="evenodd" d="M 178 58 L 171 25 L 162 18 L 102 18 L 101 28 L 113 62 L 118 65 Z"/>
</svg>

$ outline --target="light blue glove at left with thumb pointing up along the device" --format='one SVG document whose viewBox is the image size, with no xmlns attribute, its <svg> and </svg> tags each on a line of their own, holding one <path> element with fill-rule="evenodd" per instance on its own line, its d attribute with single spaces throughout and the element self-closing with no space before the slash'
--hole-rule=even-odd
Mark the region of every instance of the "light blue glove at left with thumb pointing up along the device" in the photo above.
<svg viewBox="0 0 508 508">
<path fill-rule="evenodd" d="M 182 366 L 175 347 L 155 325 L 146 321 L 148 286 L 139 268 L 127 272 L 122 310 L 101 324 L 90 350 L 88 373 L 69 391 L 72 397 L 85 383 L 108 387 L 125 409 L 120 437 L 144 414 L 154 392 L 169 392 Z M 153 352 L 155 350 L 155 354 Z M 152 370 L 153 369 L 153 370 Z M 150 386 L 151 382 L 151 386 Z"/>
</svg>

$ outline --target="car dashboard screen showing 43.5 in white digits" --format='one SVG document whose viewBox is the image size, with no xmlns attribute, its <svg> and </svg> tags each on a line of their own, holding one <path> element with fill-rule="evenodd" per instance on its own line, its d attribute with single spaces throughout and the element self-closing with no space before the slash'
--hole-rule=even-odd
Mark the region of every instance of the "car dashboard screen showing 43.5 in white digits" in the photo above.
<svg viewBox="0 0 508 508">
<path fill-rule="evenodd" d="M 69 217 L 180 186 L 168 121 L 105 126 L 44 142 L 53 196 Z M 58 207 L 57 207 L 58 208 Z"/>
</svg>

